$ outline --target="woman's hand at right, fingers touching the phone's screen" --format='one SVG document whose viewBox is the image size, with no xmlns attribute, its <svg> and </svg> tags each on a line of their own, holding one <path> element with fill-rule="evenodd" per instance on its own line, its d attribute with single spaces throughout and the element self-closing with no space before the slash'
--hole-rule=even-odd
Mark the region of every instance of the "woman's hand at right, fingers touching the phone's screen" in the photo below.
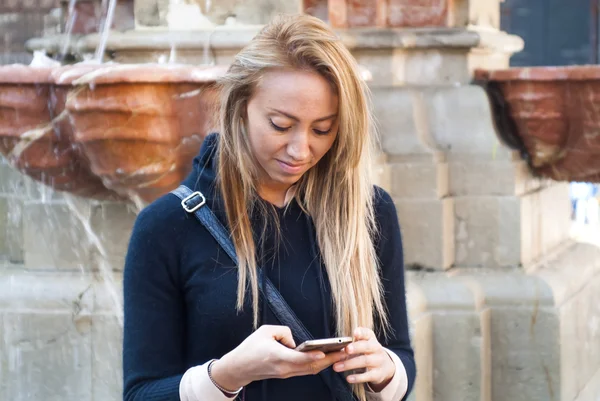
<svg viewBox="0 0 600 401">
<path fill-rule="evenodd" d="M 373 330 L 359 327 L 354 330 L 354 342 L 345 348 L 347 359 L 333 365 L 336 372 L 362 369 L 364 373 L 348 376 L 349 383 L 368 383 L 379 392 L 387 386 L 396 373 L 396 365 L 379 344 Z"/>
</svg>

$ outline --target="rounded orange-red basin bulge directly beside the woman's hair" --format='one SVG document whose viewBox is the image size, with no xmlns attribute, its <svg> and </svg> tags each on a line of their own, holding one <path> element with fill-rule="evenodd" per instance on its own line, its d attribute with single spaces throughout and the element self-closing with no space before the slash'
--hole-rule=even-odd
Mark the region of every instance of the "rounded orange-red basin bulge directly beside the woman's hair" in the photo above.
<svg viewBox="0 0 600 401">
<path fill-rule="evenodd" d="M 113 64 L 62 74 L 73 142 L 92 172 L 129 199 L 150 202 L 191 169 L 204 137 L 217 128 L 216 79 L 226 67 Z"/>
</svg>

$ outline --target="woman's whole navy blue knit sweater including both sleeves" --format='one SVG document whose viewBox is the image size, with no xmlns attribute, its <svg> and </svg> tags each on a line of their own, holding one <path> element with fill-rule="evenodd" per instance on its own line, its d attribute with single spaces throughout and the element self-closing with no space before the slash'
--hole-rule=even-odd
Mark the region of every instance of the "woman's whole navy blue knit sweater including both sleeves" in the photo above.
<svg viewBox="0 0 600 401">
<path fill-rule="evenodd" d="M 205 140 L 184 184 L 201 189 L 225 224 L 214 187 L 217 140 L 214 134 Z M 400 229 L 392 199 L 382 189 L 376 191 L 375 205 L 381 232 L 375 245 L 393 328 L 390 338 L 380 338 L 380 342 L 404 363 L 410 391 L 415 363 L 408 335 Z M 275 210 L 280 236 L 276 240 L 273 232 L 267 232 L 260 263 L 313 336 L 332 336 L 331 294 L 317 255 L 312 221 L 295 201 Z M 258 232 L 260 222 L 253 219 L 252 223 Z M 210 233 L 182 209 L 175 195 L 157 199 L 138 215 L 123 286 L 124 400 L 179 400 L 179 382 L 188 368 L 221 357 L 253 331 L 249 294 L 243 312 L 236 312 L 235 266 Z M 268 308 L 261 307 L 260 314 L 261 324 L 279 324 Z M 328 374 L 335 373 L 330 368 Z M 246 388 L 245 398 L 332 400 L 319 375 L 254 382 Z"/>
</svg>

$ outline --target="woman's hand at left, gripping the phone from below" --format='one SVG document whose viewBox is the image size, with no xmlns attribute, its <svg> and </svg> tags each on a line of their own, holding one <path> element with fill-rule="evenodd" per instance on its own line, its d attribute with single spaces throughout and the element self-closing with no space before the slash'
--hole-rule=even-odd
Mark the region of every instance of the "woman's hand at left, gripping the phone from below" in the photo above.
<svg viewBox="0 0 600 401">
<path fill-rule="evenodd" d="M 292 332 L 286 326 L 261 326 L 237 348 L 214 362 L 213 379 L 223 388 L 235 391 L 264 379 L 285 379 L 315 375 L 347 355 L 321 351 L 295 351 Z"/>
</svg>

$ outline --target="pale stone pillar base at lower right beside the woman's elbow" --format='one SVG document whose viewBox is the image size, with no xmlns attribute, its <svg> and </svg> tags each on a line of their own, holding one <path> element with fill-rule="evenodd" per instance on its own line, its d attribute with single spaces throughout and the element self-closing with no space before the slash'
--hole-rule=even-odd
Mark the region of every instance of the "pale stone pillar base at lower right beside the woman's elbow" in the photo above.
<svg viewBox="0 0 600 401">
<path fill-rule="evenodd" d="M 570 243 L 532 270 L 408 273 L 413 400 L 600 397 L 600 248 Z"/>
</svg>

